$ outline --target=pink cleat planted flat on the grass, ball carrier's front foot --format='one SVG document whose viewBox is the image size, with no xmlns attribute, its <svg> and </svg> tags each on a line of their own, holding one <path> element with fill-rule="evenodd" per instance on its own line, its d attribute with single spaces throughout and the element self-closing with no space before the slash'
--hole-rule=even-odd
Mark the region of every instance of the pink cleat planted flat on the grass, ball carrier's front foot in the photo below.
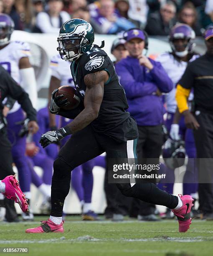
<svg viewBox="0 0 213 256">
<path fill-rule="evenodd" d="M 62 220 L 61 224 L 57 225 L 53 223 L 50 219 L 41 221 L 41 226 L 37 228 L 28 228 L 25 230 L 26 233 L 48 233 L 48 232 L 55 232 L 55 233 L 63 233 L 63 223 Z"/>
</svg>

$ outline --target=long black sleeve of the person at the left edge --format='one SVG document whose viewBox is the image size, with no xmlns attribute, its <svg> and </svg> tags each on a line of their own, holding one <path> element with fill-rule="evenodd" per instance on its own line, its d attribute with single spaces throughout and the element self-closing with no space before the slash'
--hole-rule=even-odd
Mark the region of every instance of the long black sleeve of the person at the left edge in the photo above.
<svg viewBox="0 0 213 256">
<path fill-rule="evenodd" d="M 30 101 L 28 94 L 15 82 L 15 80 L 10 76 L 10 74 L 1 67 L 0 69 L 0 82 L 3 86 L 4 94 L 10 96 L 21 105 L 21 108 L 26 112 L 27 118 L 36 120 L 36 110 Z"/>
</svg>

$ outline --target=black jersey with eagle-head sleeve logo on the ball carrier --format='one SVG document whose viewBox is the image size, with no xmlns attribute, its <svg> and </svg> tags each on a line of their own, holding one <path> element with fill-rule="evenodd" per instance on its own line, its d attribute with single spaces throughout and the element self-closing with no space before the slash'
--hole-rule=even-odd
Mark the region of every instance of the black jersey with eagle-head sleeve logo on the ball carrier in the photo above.
<svg viewBox="0 0 213 256">
<path fill-rule="evenodd" d="M 86 74 L 105 70 L 109 74 L 104 84 L 104 96 L 101 102 L 98 118 L 92 123 L 95 132 L 105 133 L 119 141 L 137 138 L 137 125 L 129 112 L 124 88 L 120 85 L 114 65 L 105 51 L 93 48 L 71 64 L 71 74 L 76 90 L 84 100 Z"/>
</svg>

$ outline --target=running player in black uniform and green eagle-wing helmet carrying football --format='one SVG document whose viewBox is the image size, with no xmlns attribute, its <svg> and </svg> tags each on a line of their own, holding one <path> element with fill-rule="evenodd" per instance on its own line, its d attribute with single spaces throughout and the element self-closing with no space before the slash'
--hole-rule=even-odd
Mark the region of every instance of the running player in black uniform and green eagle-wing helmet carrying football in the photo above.
<svg viewBox="0 0 213 256">
<path fill-rule="evenodd" d="M 53 165 L 51 216 L 41 226 L 27 229 L 26 233 L 63 232 L 62 212 L 70 188 L 70 170 L 103 152 L 107 154 L 108 163 L 109 159 L 117 159 L 120 163 L 121 159 L 136 158 L 137 124 L 126 111 L 128 104 L 124 89 L 119 84 L 112 61 L 93 43 L 93 28 L 85 20 L 68 20 L 60 29 L 58 51 L 62 59 L 72 61 L 71 73 L 83 108 L 78 109 L 79 114 L 74 118 L 72 110 L 61 110 L 69 103 L 68 99 L 61 100 L 61 96 L 56 96 L 58 89 L 53 91 L 50 112 L 74 120 L 58 131 L 44 133 L 41 145 L 46 147 L 68 134 L 72 136 L 61 148 Z M 129 183 L 119 183 L 117 187 L 127 197 L 173 209 L 180 232 L 188 230 L 192 197 L 170 195 L 150 182 L 130 183 L 129 180 Z"/>
</svg>

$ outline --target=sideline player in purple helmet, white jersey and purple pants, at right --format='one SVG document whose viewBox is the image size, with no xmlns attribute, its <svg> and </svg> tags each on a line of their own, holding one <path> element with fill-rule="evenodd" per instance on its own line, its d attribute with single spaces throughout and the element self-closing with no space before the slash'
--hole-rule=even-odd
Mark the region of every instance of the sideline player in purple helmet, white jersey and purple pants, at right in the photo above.
<svg viewBox="0 0 213 256">
<path fill-rule="evenodd" d="M 194 200 L 196 198 L 196 192 L 198 191 L 197 172 L 194 159 L 196 158 L 195 141 L 193 138 L 192 129 L 187 129 L 184 123 L 184 117 L 180 115 L 177 109 L 177 102 L 175 100 L 175 92 L 177 82 L 182 77 L 188 62 L 191 62 L 199 57 L 193 49 L 195 32 L 190 26 L 179 23 L 175 25 L 169 35 L 169 43 L 172 51 L 161 54 L 157 61 L 160 61 L 168 76 L 172 80 L 173 89 L 168 95 L 165 96 L 165 102 L 167 105 L 167 119 L 165 125 L 167 130 L 170 132 L 170 137 L 178 141 L 180 138 L 185 141 L 185 150 L 188 155 L 188 164 L 186 172 L 183 178 L 183 194 L 191 195 Z M 193 99 L 191 93 L 189 100 Z M 175 182 L 174 170 L 165 167 L 164 170 L 167 174 L 167 181 L 160 183 L 158 186 L 161 189 L 165 189 L 169 193 L 173 193 L 173 186 Z M 193 210 L 194 214 L 195 211 Z M 172 218 L 170 209 L 167 209 L 166 214 L 163 215 L 165 218 Z"/>
</svg>

